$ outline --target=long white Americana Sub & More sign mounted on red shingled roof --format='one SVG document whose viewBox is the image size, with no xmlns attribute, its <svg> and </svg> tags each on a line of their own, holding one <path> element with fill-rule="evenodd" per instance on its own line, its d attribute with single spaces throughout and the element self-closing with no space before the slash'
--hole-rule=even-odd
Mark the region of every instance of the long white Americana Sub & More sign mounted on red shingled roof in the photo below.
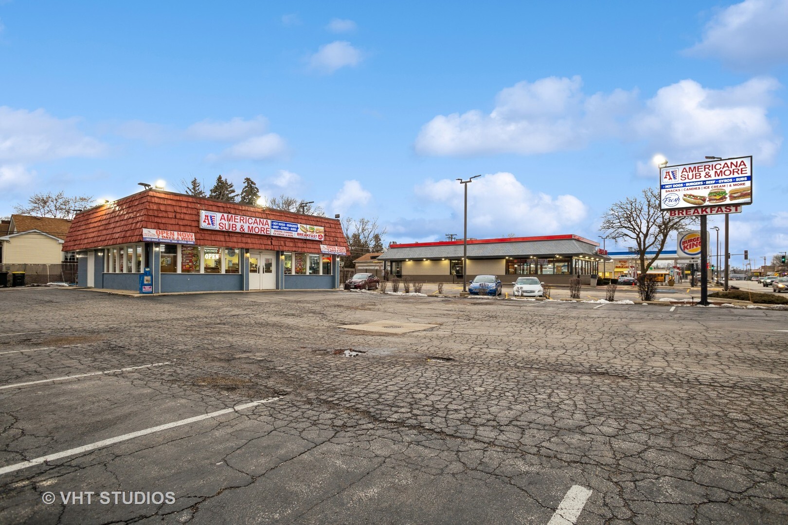
<svg viewBox="0 0 788 525">
<path fill-rule="evenodd" d="M 255 235 L 275 235 L 277 237 L 306 238 L 322 241 L 325 231 L 322 226 L 288 223 L 284 220 L 269 220 L 265 217 L 233 215 L 232 213 L 200 210 L 199 227 L 206 230 L 232 231 Z"/>
</svg>

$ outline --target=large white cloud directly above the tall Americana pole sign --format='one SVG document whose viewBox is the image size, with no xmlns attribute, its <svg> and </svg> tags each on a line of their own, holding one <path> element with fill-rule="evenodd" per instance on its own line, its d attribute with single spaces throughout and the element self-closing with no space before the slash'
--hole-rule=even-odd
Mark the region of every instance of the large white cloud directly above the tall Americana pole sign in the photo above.
<svg viewBox="0 0 788 525">
<path fill-rule="evenodd" d="M 663 87 L 632 119 L 632 133 L 652 151 L 671 162 L 703 159 L 705 155 L 754 155 L 770 163 L 782 139 L 768 118 L 775 79 L 756 78 L 738 86 L 712 90 L 694 80 Z M 654 176 L 653 165 L 641 164 L 643 176 Z"/>
</svg>

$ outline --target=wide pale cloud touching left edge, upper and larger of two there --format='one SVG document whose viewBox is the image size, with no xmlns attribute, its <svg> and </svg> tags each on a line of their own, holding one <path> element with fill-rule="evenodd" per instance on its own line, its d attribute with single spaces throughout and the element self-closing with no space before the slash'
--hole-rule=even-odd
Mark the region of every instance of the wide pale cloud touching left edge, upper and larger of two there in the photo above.
<svg viewBox="0 0 788 525">
<path fill-rule="evenodd" d="M 79 119 L 57 119 L 43 109 L 0 107 L 0 161 L 37 162 L 99 157 L 106 146 L 77 129 Z"/>
</svg>

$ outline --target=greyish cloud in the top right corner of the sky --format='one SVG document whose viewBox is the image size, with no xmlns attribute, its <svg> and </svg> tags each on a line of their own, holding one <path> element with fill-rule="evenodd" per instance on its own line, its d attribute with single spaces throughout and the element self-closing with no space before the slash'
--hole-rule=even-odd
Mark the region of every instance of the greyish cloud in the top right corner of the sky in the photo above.
<svg viewBox="0 0 788 525">
<path fill-rule="evenodd" d="M 788 0 L 746 0 L 714 17 L 700 43 L 686 50 L 730 67 L 762 70 L 788 62 Z"/>
</svg>

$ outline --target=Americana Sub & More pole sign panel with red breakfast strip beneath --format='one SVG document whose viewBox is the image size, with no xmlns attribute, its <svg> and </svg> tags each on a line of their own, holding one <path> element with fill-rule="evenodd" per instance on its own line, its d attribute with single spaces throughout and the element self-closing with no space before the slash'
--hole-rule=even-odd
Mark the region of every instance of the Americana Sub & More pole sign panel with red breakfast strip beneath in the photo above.
<svg viewBox="0 0 788 525">
<path fill-rule="evenodd" d="M 662 211 L 704 208 L 675 215 L 741 212 L 753 203 L 753 157 L 660 168 L 660 202 Z"/>
</svg>

